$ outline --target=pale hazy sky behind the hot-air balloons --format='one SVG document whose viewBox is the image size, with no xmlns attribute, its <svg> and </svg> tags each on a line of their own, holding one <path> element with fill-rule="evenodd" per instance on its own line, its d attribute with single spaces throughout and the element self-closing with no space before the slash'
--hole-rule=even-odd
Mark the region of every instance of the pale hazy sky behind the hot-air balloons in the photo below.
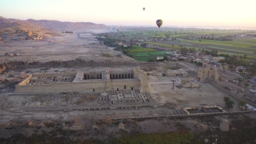
<svg viewBox="0 0 256 144">
<path fill-rule="evenodd" d="M 256 0 L 0 0 L 0 16 L 106 25 L 155 25 L 162 19 L 162 27 L 256 27 Z"/>
</svg>

